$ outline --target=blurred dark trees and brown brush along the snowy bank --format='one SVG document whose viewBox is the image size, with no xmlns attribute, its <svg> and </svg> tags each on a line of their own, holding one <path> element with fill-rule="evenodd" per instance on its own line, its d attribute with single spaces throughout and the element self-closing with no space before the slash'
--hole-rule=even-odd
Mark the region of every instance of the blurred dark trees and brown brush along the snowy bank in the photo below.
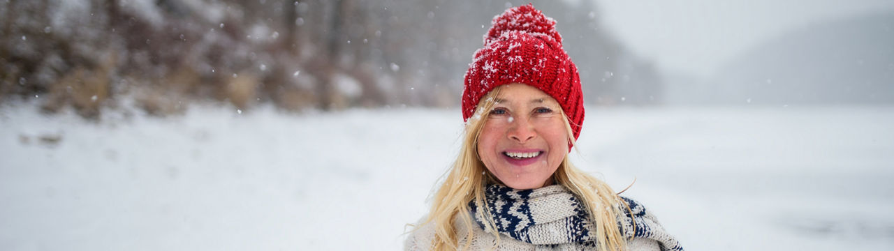
<svg viewBox="0 0 894 251">
<path fill-rule="evenodd" d="M 455 106 L 494 15 L 528 1 L 34 0 L 0 3 L 0 103 L 95 118 L 191 100 L 239 109 Z M 660 102 L 649 63 L 590 1 L 535 2 L 559 21 L 587 102 Z"/>
</svg>

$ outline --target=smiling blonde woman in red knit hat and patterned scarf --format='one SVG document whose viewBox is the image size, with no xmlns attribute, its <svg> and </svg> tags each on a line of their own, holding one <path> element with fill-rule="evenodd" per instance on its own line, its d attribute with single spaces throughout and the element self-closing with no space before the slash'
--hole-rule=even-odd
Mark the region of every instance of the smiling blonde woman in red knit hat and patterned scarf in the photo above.
<svg viewBox="0 0 894 251">
<path fill-rule="evenodd" d="M 495 17 L 465 76 L 460 155 L 408 250 L 682 250 L 654 216 L 575 168 L 578 69 L 533 5 Z"/>
</svg>

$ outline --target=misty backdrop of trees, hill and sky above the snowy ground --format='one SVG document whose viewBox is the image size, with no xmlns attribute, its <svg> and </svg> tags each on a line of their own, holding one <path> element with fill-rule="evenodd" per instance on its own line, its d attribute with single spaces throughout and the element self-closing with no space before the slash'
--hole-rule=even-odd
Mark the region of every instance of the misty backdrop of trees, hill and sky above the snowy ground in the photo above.
<svg viewBox="0 0 894 251">
<path fill-rule="evenodd" d="M 527 2 L 525 2 L 527 3 Z M 522 1 L 13 1 L 0 102 L 86 117 L 454 107 L 495 14 Z M 604 7 L 603 7 L 604 6 Z M 594 105 L 890 104 L 894 4 L 554 1 Z"/>
</svg>

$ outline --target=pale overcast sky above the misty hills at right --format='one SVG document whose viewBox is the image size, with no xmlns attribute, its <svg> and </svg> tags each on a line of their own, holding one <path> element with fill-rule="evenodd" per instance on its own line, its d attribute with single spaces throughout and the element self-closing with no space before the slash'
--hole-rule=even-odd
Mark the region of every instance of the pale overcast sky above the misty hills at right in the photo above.
<svg viewBox="0 0 894 251">
<path fill-rule="evenodd" d="M 606 29 L 664 71 L 707 77 L 789 29 L 881 10 L 892 0 L 594 0 Z"/>
</svg>

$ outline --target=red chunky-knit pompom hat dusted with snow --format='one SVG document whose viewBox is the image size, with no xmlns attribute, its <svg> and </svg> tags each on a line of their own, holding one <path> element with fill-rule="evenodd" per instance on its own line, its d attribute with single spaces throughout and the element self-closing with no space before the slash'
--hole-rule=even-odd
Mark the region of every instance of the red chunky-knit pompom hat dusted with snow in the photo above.
<svg viewBox="0 0 894 251">
<path fill-rule="evenodd" d="M 485 46 L 475 52 L 466 71 L 463 121 L 468 121 L 481 97 L 493 88 L 522 83 L 555 98 L 578 138 L 584 122 L 578 67 L 562 48 L 555 23 L 532 4 L 510 8 L 493 18 Z"/>
</svg>

